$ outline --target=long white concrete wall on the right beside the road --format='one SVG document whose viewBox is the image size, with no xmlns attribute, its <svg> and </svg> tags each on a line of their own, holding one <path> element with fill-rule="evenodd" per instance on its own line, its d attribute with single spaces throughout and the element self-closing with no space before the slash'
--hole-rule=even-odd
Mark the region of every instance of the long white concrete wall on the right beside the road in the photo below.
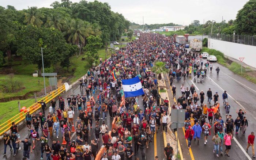
<svg viewBox="0 0 256 160">
<path fill-rule="evenodd" d="M 242 45 L 239 43 L 208 38 L 208 48 L 219 50 L 226 56 L 237 60 L 239 60 L 239 57 L 244 57 L 243 62 L 245 64 L 256 68 L 256 46 Z"/>
</svg>

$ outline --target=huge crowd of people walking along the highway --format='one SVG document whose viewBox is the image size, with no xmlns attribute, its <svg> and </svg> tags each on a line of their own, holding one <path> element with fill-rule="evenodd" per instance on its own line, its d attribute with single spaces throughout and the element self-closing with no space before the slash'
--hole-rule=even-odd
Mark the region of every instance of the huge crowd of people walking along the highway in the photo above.
<svg viewBox="0 0 256 160">
<path fill-rule="evenodd" d="M 10 135 L 4 134 L 4 155 L 8 145 L 12 151 L 12 148 L 16 148 L 16 144 L 23 143 L 23 156 L 29 159 L 30 153 L 35 148 L 39 148 L 38 145 L 41 143 L 41 159 L 45 153 L 47 160 L 50 160 L 50 157 L 53 160 L 91 160 L 95 159 L 99 151 L 99 143 L 102 142 L 106 152 L 102 154 L 101 160 L 138 159 L 139 153 L 143 160 L 150 159 L 150 157 L 146 158 L 146 149 L 159 131 L 167 134 L 170 107 L 167 98 L 161 100 L 157 90 L 158 81 L 155 74 L 151 72 L 151 68 L 155 61 L 165 62 L 165 68 L 170 70 L 170 86 L 172 86 L 174 98 L 177 88 L 172 83 L 176 79 L 180 81 L 183 78 L 185 81 L 186 78 L 191 77 L 193 71 L 194 77 L 197 77 L 200 83 L 207 76 L 209 67 L 209 72 L 212 72 L 212 64 L 210 62 L 204 64 L 200 56 L 199 53 L 187 52 L 182 46 L 175 46 L 172 38 L 153 33 L 141 33 L 139 40 L 127 43 L 126 47 L 118 50 L 105 61 L 100 59 L 98 66 L 93 64 L 87 74 L 78 80 L 83 94 L 58 97 L 57 102 L 53 99 L 52 111 L 50 110 L 47 115 L 44 101 L 38 102 L 42 105 L 43 113 L 26 115 L 29 137 L 24 140 L 15 137 L 18 127 L 13 123 Z M 113 72 L 116 77 L 112 76 Z M 124 98 L 122 79 L 131 79 L 136 76 L 140 78 L 144 95 Z M 218 156 L 219 147 L 225 144 L 225 154 L 229 156 L 234 127 L 236 126 L 236 134 L 238 134 L 240 126 L 243 133 L 248 126 L 244 117 L 246 112 L 238 111 L 239 117 L 233 121 L 229 115 L 230 105 L 227 102 L 227 94 L 223 93 L 226 115 L 229 116 L 225 123 L 219 113 L 217 92 L 212 95 L 209 89 L 207 95 L 204 95 L 203 91 L 198 95 L 193 85 L 186 88 L 183 84 L 181 92 L 182 96 L 177 99 L 177 104 L 172 108 L 186 109 L 184 127 L 188 148 L 191 147 L 193 138 L 197 138 L 199 145 L 202 132 L 204 145 L 206 145 L 210 129 L 214 127 L 215 136 L 212 138 L 214 152 L 216 151 Z M 207 107 L 208 104 L 204 102 L 205 96 L 209 104 L 213 97 L 214 105 Z M 200 104 L 198 104 L 199 100 Z M 206 121 L 207 112 L 209 123 Z M 107 118 L 113 121 L 113 128 L 106 124 Z M 225 135 L 224 130 L 227 133 Z M 73 135 L 72 132 L 75 134 Z M 254 136 L 253 133 L 251 135 Z M 73 136 L 75 136 L 74 141 L 72 141 Z M 60 142 L 59 137 L 61 137 Z M 252 138 L 248 141 L 248 147 L 253 148 L 253 141 Z M 49 142 L 52 142 L 51 146 Z M 222 147 L 220 148 L 222 153 Z M 173 158 L 174 151 L 169 143 L 163 152 L 167 160 Z M 13 156 L 15 153 L 14 149 Z"/>
</svg>

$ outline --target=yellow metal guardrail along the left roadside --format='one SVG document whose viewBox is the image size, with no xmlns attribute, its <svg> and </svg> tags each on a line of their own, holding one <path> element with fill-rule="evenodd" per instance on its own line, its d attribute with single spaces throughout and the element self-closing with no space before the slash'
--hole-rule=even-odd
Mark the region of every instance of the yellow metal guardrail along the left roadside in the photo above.
<svg viewBox="0 0 256 160">
<path fill-rule="evenodd" d="M 41 100 L 44 100 L 45 103 L 50 102 L 53 98 L 57 97 L 58 95 L 60 95 L 62 92 L 64 92 L 66 90 L 65 85 L 62 85 L 60 88 L 54 90 L 53 92 L 51 92 L 49 95 L 45 96 L 44 98 L 40 99 L 38 102 L 40 102 Z M 38 109 L 41 108 L 41 104 L 39 103 L 34 103 L 33 105 L 31 105 L 30 107 L 26 108 L 26 110 L 29 112 L 29 114 L 34 113 L 35 111 L 37 111 Z M 15 122 L 16 124 L 18 124 L 19 122 L 23 121 L 25 119 L 26 116 L 26 112 L 22 111 L 19 114 L 15 115 L 14 117 L 12 117 L 11 119 L 9 119 L 8 121 L 2 123 L 0 125 L 0 136 L 2 134 L 4 134 L 4 132 L 10 130 L 10 127 L 12 126 L 12 122 Z"/>
</svg>

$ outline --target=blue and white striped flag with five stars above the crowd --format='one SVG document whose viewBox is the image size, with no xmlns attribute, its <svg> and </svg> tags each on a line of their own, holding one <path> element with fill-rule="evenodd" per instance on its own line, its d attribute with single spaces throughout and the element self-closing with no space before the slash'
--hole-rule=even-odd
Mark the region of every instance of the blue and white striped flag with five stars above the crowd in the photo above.
<svg viewBox="0 0 256 160">
<path fill-rule="evenodd" d="M 125 98 L 144 95 L 142 84 L 138 76 L 132 79 L 122 80 L 122 84 Z"/>
</svg>

